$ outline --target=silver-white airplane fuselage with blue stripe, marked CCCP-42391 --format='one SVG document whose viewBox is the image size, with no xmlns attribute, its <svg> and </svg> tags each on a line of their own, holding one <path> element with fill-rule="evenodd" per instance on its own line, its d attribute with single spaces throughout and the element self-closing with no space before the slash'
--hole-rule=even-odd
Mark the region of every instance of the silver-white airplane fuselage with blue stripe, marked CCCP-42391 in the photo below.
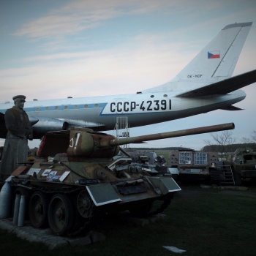
<svg viewBox="0 0 256 256">
<path fill-rule="evenodd" d="M 237 90 L 225 95 L 211 97 L 183 98 L 167 93 L 126 94 L 103 97 L 81 97 L 26 102 L 24 110 L 34 124 L 35 136 L 44 132 L 37 127 L 47 120 L 67 122 L 95 130 L 114 129 L 116 118 L 127 116 L 129 127 L 139 127 L 170 121 L 177 118 L 207 113 L 218 108 L 233 105 L 245 98 L 244 91 Z M 0 112 L 12 108 L 12 103 L 0 105 Z M 44 119 L 45 118 L 45 119 Z M 37 121 L 39 120 L 39 121 Z M 41 124 L 40 124 L 41 123 Z M 55 127 L 55 125 L 53 125 Z M 53 128 L 54 130 L 54 128 Z M 38 135 L 37 135 L 38 134 Z"/>
</svg>

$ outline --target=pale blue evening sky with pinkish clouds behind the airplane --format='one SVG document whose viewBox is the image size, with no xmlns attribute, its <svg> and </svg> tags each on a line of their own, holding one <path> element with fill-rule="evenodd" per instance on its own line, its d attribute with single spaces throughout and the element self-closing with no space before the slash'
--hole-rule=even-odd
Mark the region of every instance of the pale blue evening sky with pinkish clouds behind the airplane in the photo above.
<svg viewBox="0 0 256 256">
<path fill-rule="evenodd" d="M 0 102 L 12 102 L 17 94 L 60 99 L 134 94 L 161 85 L 231 23 L 253 22 L 233 75 L 251 71 L 255 13 L 255 0 L 0 0 Z M 233 122 L 232 136 L 241 143 L 256 129 L 255 86 L 244 87 L 246 99 L 236 104 L 244 110 L 136 127 L 130 136 Z M 143 146 L 200 150 L 206 140 L 213 141 L 211 134 Z"/>
</svg>

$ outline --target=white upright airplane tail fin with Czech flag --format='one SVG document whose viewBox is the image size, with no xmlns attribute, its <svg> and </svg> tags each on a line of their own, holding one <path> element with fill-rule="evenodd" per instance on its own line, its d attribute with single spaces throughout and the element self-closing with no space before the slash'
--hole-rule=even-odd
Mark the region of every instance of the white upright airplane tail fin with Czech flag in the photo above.
<svg viewBox="0 0 256 256">
<path fill-rule="evenodd" d="M 201 87 L 230 78 L 251 26 L 252 22 L 225 26 L 173 80 L 153 90 L 145 91 L 171 90 L 172 83 L 177 89 L 176 82 L 184 82 L 183 84 L 187 83 L 189 86 L 195 83 L 195 86 Z M 195 89 L 194 86 L 192 87 Z"/>
</svg>

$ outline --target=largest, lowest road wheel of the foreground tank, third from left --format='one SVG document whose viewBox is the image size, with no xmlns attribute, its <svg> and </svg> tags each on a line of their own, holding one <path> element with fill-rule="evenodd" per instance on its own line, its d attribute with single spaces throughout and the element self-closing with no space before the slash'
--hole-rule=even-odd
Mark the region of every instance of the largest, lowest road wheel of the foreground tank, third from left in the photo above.
<svg viewBox="0 0 256 256">
<path fill-rule="evenodd" d="M 72 228 L 74 208 L 67 195 L 56 194 L 52 197 L 48 208 L 48 221 L 57 236 L 63 236 Z"/>
</svg>

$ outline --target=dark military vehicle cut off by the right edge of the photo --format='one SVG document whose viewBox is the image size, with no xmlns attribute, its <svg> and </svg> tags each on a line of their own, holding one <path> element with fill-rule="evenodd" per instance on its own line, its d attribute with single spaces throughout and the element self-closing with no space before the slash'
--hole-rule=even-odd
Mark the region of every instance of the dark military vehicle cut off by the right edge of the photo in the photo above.
<svg viewBox="0 0 256 256">
<path fill-rule="evenodd" d="M 256 152 L 252 148 L 237 148 L 222 163 L 225 167 L 231 167 L 236 186 L 240 186 L 245 178 L 256 178 Z"/>
</svg>

